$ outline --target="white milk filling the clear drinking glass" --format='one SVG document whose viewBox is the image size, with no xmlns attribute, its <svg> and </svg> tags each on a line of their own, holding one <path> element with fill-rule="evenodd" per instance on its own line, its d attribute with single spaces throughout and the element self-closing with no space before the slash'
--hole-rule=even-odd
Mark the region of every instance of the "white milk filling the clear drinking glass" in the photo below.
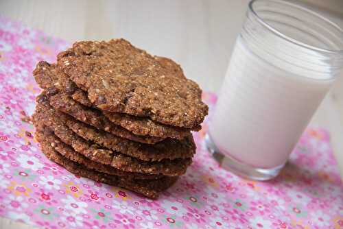
<svg viewBox="0 0 343 229">
<path fill-rule="evenodd" d="M 257 48 L 237 38 L 209 129 L 222 154 L 268 169 L 287 161 L 333 80 Z"/>
</svg>

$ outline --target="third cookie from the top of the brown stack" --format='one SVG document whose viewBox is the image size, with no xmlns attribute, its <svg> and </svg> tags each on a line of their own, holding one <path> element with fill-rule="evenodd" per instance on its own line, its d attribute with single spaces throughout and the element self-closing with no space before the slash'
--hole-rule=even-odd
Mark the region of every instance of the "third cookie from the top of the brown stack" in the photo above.
<svg viewBox="0 0 343 229">
<path fill-rule="evenodd" d="M 105 130 L 115 136 L 120 136 L 121 138 L 127 138 L 131 141 L 147 144 L 158 143 L 164 139 L 149 135 L 141 136 L 133 134 L 120 125 L 115 125 L 109 121 L 99 110 L 88 108 L 75 102 L 66 93 L 57 93 L 56 95 L 49 96 L 49 102 L 56 110 L 64 112 L 88 125 L 93 125 L 99 130 Z"/>
</svg>

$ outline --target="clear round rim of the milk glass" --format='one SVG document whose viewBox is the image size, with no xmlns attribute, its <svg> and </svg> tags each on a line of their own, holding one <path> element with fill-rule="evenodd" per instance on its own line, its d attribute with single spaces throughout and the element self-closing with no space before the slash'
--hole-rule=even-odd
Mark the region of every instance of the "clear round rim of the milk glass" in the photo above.
<svg viewBox="0 0 343 229">
<path fill-rule="evenodd" d="M 305 47 L 307 49 L 311 49 L 311 50 L 314 50 L 314 51 L 321 51 L 321 52 L 324 52 L 324 53 L 343 55 L 343 49 L 338 49 L 338 50 L 322 49 L 322 48 L 319 48 L 319 47 L 315 47 L 313 45 L 307 45 L 306 43 L 303 43 L 303 42 L 301 42 L 299 40 L 296 40 L 294 38 L 290 38 L 289 36 L 286 36 L 285 34 L 281 33 L 278 29 L 275 29 L 274 27 L 272 27 L 271 25 L 266 23 L 259 16 L 259 14 L 255 11 L 255 9 L 253 7 L 253 4 L 255 2 L 257 2 L 257 1 L 261 1 L 261 0 L 251 0 L 250 3 L 249 3 L 249 6 L 248 6 L 248 10 L 250 10 L 250 12 L 252 12 L 252 15 L 254 15 L 256 17 L 257 21 L 259 21 L 259 23 L 261 23 L 261 25 L 263 25 L 268 30 L 270 30 L 270 32 L 276 34 L 276 36 L 279 36 L 280 38 L 283 38 L 284 40 L 287 40 L 288 42 L 293 43 L 294 45 Z M 270 1 L 270 2 L 272 2 L 272 1 L 279 2 L 279 3 L 283 3 L 285 5 L 291 5 L 292 7 L 298 8 L 300 10 L 304 10 L 305 12 L 313 14 L 314 16 L 317 16 L 318 18 L 322 19 L 323 21 L 329 23 L 330 25 L 335 27 L 335 29 L 338 29 L 343 34 L 343 29 L 340 26 L 338 26 L 336 23 L 334 23 L 333 21 L 327 19 L 327 17 L 322 16 L 321 14 L 318 14 L 317 12 L 314 12 L 313 10 L 309 10 L 308 8 L 303 7 L 302 5 L 298 5 L 296 3 L 292 3 L 292 2 L 289 2 L 289 1 L 283 1 L 283 0 L 268 0 L 268 1 Z"/>
</svg>

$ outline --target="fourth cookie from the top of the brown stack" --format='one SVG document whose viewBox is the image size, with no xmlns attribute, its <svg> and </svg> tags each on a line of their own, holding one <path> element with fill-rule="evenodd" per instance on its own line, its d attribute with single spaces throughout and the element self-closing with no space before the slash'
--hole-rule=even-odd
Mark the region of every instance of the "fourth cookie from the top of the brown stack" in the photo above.
<svg viewBox="0 0 343 229">
<path fill-rule="evenodd" d="M 137 143 L 97 130 L 91 125 L 86 125 L 68 115 L 64 115 L 51 108 L 49 102 L 44 99 L 38 99 L 34 118 L 37 120 L 36 122 L 49 123 L 47 125 L 60 125 L 63 127 L 62 130 L 69 132 L 72 130 L 86 141 L 92 141 L 102 147 L 113 149 L 115 152 L 139 158 L 140 160 L 161 161 L 166 158 L 171 160 L 191 158 L 196 153 L 196 144 L 191 134 L 181 141 L 167 138 L 154 145 Z M 68 128 L 70 130 L 67 130 Z"/>
</svg>

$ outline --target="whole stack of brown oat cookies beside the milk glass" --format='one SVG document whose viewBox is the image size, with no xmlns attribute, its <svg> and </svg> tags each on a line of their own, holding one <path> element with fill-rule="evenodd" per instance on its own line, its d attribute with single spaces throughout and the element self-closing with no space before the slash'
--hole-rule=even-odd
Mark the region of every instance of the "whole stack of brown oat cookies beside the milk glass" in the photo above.
<svg viewBox="0 0 343 229">
<path fill-rule="evenodd" d="M 43 153 L 72 173 L 147 197 L 174 184 L 196 152 L 208 108 L 167 58 L 123 39 L 78 42 L 34 70 Z"/>
</svg>

